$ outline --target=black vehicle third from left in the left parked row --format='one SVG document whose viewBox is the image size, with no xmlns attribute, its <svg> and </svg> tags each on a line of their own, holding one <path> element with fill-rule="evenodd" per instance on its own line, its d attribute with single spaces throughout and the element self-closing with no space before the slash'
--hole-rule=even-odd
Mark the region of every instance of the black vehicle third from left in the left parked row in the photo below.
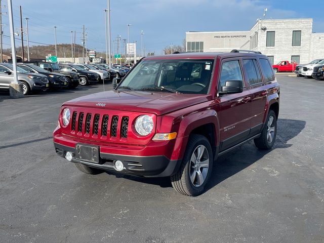
<svg viewBox="0 0 324 243">
<path fill-rule="evenodd" d="M 79 84 L 78 75 L 76 72 L 72 71 L 63 71 L 60 69 L 60 67 L 57 65 L 56 62 L 24 62 L 24 63 L 30 63 L 35 64 L 36 66 L 39 66 L 45 70 L 48 70 L 50 72 L 56 72 L 61 73 L 65 75 L 65 78 L 68 82 L 69 88 L 76 88 Z"/>
</svg>

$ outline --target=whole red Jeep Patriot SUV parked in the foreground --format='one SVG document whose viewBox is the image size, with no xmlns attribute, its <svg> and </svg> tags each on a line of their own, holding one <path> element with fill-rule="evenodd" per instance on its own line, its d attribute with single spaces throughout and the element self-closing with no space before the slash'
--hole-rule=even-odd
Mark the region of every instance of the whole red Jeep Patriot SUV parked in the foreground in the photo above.
<svg viewBox="0 0 324 243">
<path fill-rule="evenodd" d="M 219 155 L 274 144 L 280 89 L 260 52 L 150 56 L 115 83 L 62 105 L 55 150 L 84 173 L 170 177 L 194 196 Z"/>
</svg>

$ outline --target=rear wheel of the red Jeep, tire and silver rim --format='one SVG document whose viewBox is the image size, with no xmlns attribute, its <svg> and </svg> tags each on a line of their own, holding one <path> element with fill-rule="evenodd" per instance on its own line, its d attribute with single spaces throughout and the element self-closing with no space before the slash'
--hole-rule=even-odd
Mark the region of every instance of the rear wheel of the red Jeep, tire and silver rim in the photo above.
<svg viewBox="0 0 324 243">
<path fill-rule="evenodd" d="M 270 121 L 272 117 L 272 121 Z M 273 130 L 272 130 L 273 129 Z M 262 129 L 261 136 L 254 139 L 254 144 L 260 149 L 272 148 L 277 135 L 277 117 L 273 110 L 269 110 L 264 128 Z M 271 136 L 271 139 L 270 137 Z"/>
</svg>

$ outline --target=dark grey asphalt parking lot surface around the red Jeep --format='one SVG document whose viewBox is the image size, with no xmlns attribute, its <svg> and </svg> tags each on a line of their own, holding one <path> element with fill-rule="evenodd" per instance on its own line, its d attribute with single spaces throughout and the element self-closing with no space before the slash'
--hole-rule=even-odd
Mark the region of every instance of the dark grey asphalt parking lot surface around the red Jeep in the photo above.
<svg viewBox="0 0 324 243">
<path fill-rule="evenodd" d="M 273 149 L 221 156 L 198 197 L 169 178 L 86 175 L 55 154 L 61 103 L 102 86 L 0 93 L 0 242 L 324 242 L 324 81 L 277 79 Z"/>
</svg>

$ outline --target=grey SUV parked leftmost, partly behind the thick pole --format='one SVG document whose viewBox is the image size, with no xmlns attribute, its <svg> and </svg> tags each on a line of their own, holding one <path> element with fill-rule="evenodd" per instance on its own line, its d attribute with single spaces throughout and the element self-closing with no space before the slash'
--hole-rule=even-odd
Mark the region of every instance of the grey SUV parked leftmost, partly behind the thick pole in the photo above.
<svg viewBox="0 0 324 243">
<path fill-rule="evenodd" d="M 47 76 L 39 73 L 30 73 L 17 67 L 18 82 L 22 84 L 23 94 L 28 95 L 36 91 L 49 89 Z M 0 64 L 0 89 L 9 90 L 9 85 L 14 78 L 13 65 L 8 63 Z"/>
</svg>

